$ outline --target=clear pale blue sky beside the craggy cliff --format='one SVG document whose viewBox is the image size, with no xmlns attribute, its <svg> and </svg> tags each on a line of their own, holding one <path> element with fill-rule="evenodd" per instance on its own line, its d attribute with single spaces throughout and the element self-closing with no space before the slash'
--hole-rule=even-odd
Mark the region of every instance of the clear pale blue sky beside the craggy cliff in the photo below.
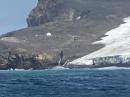
<svg viewBox="0 0 130 97">
<path fill-rule="evenodd" d="M 0 34 L 27 27 L 26 18 L 37 0 L 0 0 Z"/>
</svg>

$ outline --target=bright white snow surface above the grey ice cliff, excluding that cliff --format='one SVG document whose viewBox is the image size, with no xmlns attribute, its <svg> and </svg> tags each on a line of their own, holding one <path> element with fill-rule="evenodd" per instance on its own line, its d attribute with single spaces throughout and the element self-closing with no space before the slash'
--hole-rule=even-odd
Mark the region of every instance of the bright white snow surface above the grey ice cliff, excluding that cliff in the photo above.
<svg viewBox="0 0 130 97">
<path fill-rule="evenodd" d="M 96 57 L 106 57 L 115 55 L 130 55 L 130 17 L 125 18 L 124 23 L 119 27 L 108 31 L 100 41 L 93 44 L 105 44 L 106 46 L 89 55 L 74 60 L 70 64 L 86 64 L 88 60 Z"/>
</svg>

